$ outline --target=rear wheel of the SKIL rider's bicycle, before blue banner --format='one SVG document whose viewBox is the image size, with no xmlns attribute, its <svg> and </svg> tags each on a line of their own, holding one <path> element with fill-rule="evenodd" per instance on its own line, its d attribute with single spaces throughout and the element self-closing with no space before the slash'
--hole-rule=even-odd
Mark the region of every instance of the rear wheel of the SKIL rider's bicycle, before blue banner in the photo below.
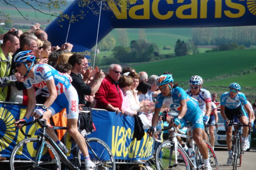
<svg viewBox="0 0 256 170">
<path fill-rule="evenodd" d="M 102 170 L 115 170 L 115 160 L 114 156 L 111 152 L 111 149 L 108 147 L 108 145 L 103 142 L 101 139 L 92 137 L 88 138 L 89 146 L 87 146 L 90 159 L 92 162 L 95 163 L 96 168 L 95 169 L 102 169 Z M 90 149 L 91 147 L 91 149 Z M 95 154 L 94 154 L 95 153 Z M 82 167 L 85 166 L 84 162 L 84 156 L 80 149 L 78 149 L 77 152 L 77 158 L 78 158 L 78 166 Z M 96 156 L 98 158 L 96 158 Z M 80 168 L 84 169 L 84 168 Z"/>
</svg>

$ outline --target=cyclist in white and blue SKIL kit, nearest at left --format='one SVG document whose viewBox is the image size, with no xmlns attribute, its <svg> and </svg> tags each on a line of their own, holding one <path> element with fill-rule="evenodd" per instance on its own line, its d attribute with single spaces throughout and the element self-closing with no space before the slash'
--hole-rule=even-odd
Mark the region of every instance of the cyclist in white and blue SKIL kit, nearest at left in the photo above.
<svg viewBox="0 0 256 170">
<path fill-rule="evenodd" d="M 71 85 L 71 78 L 66 73 L 60 73 L 53 67 L 47 64 L 34 65 L 35 56 L 31 51 L 21 51 L 14 57 L 16 70 L 25 77 L 24 85 L 27 89 L 28 104 L 26 108 L 25 117 L 17 120 L 15 124 L 25 124 L 29 116 L 34 115 L 35 118 L 48 120 L 56 113 L 60 112 L 63 108 L 67 110 L 67 126 L 69 134 L 75 139 L 79 149 L 81 149 L 85 157 L 85 169 L 94 169 L 94 163 L 90 160 L 88 149 L 84 137 L 78 132 L 78 96 L 77 91 Z M 36 96 L 34 88 L 37 87 L 46 90 L 50 93 L 45 103 L 41 108 L 34 110 L 36 106 Z M 31 115 L 31 116 L 32 116 Z M 47 125 L 50 125 L 47 122 Z M 47 133 L 53 140 L 58 141 L 57 135 L 54 130 L 47 130 Z M 58 146 L 66 154 L 68 149 L 58 141 Z"/>
</svg>

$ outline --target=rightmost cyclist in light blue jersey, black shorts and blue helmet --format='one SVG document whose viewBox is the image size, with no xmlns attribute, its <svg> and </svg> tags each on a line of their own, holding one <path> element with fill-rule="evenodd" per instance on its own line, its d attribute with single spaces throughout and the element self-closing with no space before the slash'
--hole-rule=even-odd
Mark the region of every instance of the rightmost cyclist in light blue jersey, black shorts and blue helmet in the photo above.
<svg viewBox="0 0 256 170">
<path fill-rule="evenodd" d="M 247 104 L 247 99 L 245 95 L 241 92 L 241 87 L 238 83 L 231 83 L 229 86 L 229 92 L 225 92 L 220 97 L 220 114 L 223 119 L 226 121 L 228 125 L 230 122 L 233 122 L 234 116 L 236 116 L 242 124 L 248 124 L 251 126 L 251 123 L 248 123 L 246 113 L 242 107 L 242 104 L 245 106 L 248 113 L 250 113 L 249 105 Z M 251 114 L 248 115 L 249 120 L 251 120 Z M 248 127 L 243 127 L 243 136 L 247 136 L 248 134 Z M 227 146 L 228 146 L 228 153 L 229 158 L 227 161 L 228 165 L 232 165 L 232 125 L 228 125 L 226 130 L 227 135 Z M 247 140 L 245 137 L 242 139 L 242 150 L 247 150 Z"/>
</svg>

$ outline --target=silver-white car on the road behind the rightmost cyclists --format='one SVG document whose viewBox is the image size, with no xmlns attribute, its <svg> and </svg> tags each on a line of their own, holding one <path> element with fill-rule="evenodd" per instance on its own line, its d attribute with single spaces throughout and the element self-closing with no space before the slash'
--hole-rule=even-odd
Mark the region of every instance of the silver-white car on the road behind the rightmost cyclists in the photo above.
<svg viewBox="0 0 256 170">
<path fill-rule="evenodd" d="M 218 109 L 218 123 L 219 123 L 219 127 L 218 127 L 218 132 L 214 131 L 214 136 L 215 136 L 215 142 L 214 142 L 214 147 L 227 147 L 227 142 L 226 142 L 226 130 L 225 130 L 225 126 L 224 126 L 224 119 L 222 118 L 221 114 L 220 114 L 220 110 Z M 232 132 L 232 139 L 233 139 L 233 135 L 234 135 L 234 127 L 233 127 L 233 132 Z M 251 135 L 249 135 L 249 141 L 251 143 Z M 232 144 L 233 144 L 233 140 L 232 140 Z M 249 149 L 247 149 L 247 151 L 249 151 Z"/>
</svg>

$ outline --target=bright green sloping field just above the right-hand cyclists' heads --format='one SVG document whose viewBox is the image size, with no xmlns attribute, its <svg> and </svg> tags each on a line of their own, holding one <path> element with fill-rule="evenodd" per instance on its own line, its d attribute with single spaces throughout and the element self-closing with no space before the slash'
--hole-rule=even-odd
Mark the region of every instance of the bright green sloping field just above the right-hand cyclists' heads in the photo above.
<svg viewBox="0 0 256 170">
<path fill-rule="evenodd" d="M 148 75 L 160 75 L 165 71 L 170 71 L 176 81 L 188 81 L 193 75 L 199 75 L 204 80 L 207 80 L 215 76 L 231 74 L 254 67 L 256 63 L 255 52 L 255 49 L 210 52 L 134 65 L 132 67 L 137 72 L 145 71 Z"/>
</svg>

